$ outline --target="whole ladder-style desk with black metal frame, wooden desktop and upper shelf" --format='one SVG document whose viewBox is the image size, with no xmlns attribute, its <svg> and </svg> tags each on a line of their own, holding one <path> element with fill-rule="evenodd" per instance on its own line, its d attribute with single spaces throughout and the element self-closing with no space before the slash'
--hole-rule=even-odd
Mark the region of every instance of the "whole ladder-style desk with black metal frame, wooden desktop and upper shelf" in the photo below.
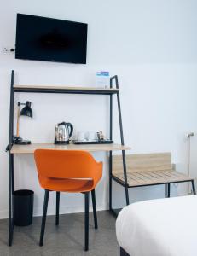
<svg viewBox="0 0 197 256">
<path fill-rule="evenodd" d="M 115 88 L 113 88 L 113 81 L 115 82 Z M 64 94 L 86 94 L 86 95 L 106 95 L 109 96 L 109 139 L 113 140 L 113 95 L 117 97 L 118 111 L 119 111 L 119 131 L 121 144 L 96 144 L 96 145 L 75 145 L 69 144 L 65 146 L 54 145 L 53 143 L 32 143 L 31 145 L 15 145 L 13 144 L 14 136 L 14 93 L 26 92 L 26 93 L 64 93 Z M 53 86 L 53 85 L 17 85 L 14 84 L 14 70 L 11 73 L 11 87 L 10 87 L 10 108 L 9 108 L 9 246 L 13 241 L 13 209 L 12 209 L 12 195 L 14 192 L 14 154 L 33 154 L 37 148 L 55 148 L 63 150 L 86 150 L 89 152 L 105 151 L 109 152 L 109 210 L 117 216 L 117 209 L 112 207 L 112 181 L 113 179 L 113 151 L 120 150 L 122 152 L 123 160 L 123 176 L 125 181 L 125 201 L 129 204 L 128 183 L 126 174 L 126 161 L 125 150 L 129 150 L 129 147 L 125 146 L 123 136 L 123 125 L 120 108 L 119 98 L 119 83 L 118 77 L 113 76 L 110 79 L 110 88 L 94 88 L 94 87 L 70 87 L 70 86 Z M 117 182 L 114 180 L 114 182 Z"/>
</svg>

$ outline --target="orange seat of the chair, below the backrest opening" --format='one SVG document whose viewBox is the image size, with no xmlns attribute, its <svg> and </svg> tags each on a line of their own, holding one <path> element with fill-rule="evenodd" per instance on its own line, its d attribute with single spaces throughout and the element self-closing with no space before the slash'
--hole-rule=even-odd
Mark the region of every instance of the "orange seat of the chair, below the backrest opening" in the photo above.
<svg viewBox="0 0 197 256">
<path fill-rule="evenodd" d="M 80 193 L 91 191 L 93 188 L 93 180 L 44 177 L 41 186 L 44 189 L 52 191 Z"/>
</svg>

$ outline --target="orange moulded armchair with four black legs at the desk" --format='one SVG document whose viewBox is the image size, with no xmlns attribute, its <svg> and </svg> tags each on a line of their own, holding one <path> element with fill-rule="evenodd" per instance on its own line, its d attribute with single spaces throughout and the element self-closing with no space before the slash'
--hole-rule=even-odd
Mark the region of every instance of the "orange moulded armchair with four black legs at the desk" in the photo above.
<svg viewBox="0 0 197 256">
<path fill-rule="evenodd" d="M 85 151 L 37 149 L 34 158 L 39 183 L 45 189 L 39 245 L 43 246 L 49 192 L 56 191 L 56 225 L 59 224 L 60 192 L 83 193 L 85 197 L 84 250 L 89 247 L 89 194 L 91 191 L 97 229 L 95 187 L 102 176 L 102 163 Z"/>
</svg>

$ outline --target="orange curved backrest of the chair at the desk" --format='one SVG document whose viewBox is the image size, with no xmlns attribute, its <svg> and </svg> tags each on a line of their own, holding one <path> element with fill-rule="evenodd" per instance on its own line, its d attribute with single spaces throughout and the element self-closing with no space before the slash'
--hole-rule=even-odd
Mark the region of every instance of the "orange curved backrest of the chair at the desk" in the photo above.
<svg viewBox="0 0 197 256">
<path fill-rule="evenodd" d="M 96 160 L 86 151 L 37 149 L 34 158 L 38 176 L 94 179 Z"/>
</svg>

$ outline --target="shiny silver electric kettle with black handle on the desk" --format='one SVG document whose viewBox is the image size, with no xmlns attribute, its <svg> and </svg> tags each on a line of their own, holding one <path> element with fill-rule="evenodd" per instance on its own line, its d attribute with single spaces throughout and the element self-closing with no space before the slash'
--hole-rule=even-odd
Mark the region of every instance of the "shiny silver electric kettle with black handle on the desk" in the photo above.
<svg viewBox="0 0 197 256">
<path fill-rule="evenodd" d="M 55 125 L 55 144 L 69 144 L 72 132 L 73 125 L 71 123 L 61 122 Z"/>
</svg>

